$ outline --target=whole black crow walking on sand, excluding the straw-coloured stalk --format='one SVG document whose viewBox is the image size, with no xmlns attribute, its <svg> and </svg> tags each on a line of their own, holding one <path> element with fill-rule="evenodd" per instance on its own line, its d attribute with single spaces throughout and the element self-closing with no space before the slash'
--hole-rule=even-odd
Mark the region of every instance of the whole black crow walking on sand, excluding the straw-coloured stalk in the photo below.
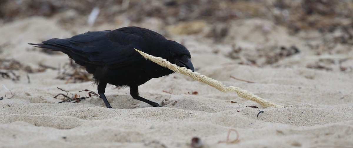
<svg viewBox="0 0 353 148">
<path fill-rule="evenodd" d="M 98 85 L 98 94 L 107 108 L 112 108 L 104 95 L 107 83 L 129 86 L 133 99 L 154 107 L 160 106 L 156 102 L 140 97 L 138 86 L 173 71 L 146 60 L 134 48 L 194 70 L 190 52 L 183 45 L 140 27 L 87 32 L 72 38 L 50 39 L 39 44 L 29 44 L 63 52 L 77 64 L 84 66 L 88 73 L 93 74 L 93 79 Z"/>
</svg>

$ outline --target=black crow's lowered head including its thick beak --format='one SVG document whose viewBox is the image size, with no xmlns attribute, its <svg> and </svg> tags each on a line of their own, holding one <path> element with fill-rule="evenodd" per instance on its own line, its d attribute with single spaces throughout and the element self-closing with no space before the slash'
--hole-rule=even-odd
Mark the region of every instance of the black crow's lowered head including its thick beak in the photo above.
<svg viewBox="0 0 353 148">
<path fill-rule="evenodd" d="M 194 71 L 194 66 L 191 63 L 190 52 L 181 44 L 175 41 L 169 41 L 167 49 L 170 51 L 170 55 L 167 58 L 169 62 L 175 63 L 180 67 L 186 67 Z"/>
</svg>

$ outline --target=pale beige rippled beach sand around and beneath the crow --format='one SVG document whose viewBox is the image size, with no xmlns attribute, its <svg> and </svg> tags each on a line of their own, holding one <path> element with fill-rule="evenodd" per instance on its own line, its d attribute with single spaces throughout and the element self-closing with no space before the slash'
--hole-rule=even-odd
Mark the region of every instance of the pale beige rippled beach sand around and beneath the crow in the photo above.
<svg viewBox="0 0 353 148">
<path fill-rule="evenodd" d="M 33 69 L 39 64 L 59 67 L 68 62 L 66 55 L 34 51 L 27 43 L 126 26 L 121 23 L 67 28 L 57 22 L 55 18 L 31 17 L 3 24 L 0 58 L 16 59 Z M 157 32 L 167 29 L 154 23 L 132 25 Z M 58 103 L 62 97 L 53 97 L 64 92 L 56 87 L 87 96 L 87 92 L 79 91 L 96 92 L 96 86 L 90 81 L 66 83 L 55 79 L 58 70 L 52 69 L 28 73 L 28 83 L 27 72 L 15 70 L 19 81 L 0 79 L 0 97 L 4 97 L 0 100 L 0 147 L 184 148 L 191 147 L 193 137 L 201 139 L 204 148 L 353 147 L 353 73 L 340 70 L 340 65 L 352 66 L 352 48 L 342 46 L 337 50 L 343 52 L 316 55 L 307 44 L 317 40 L 303 38 L 316 38 L 315 32 L 293 36 L 286 28 L 261 19 L 231 23 L 234 25 L 223 43 L 214 43 L 200 34 L 169 34 L 168 38 L 189 49 L 198 73 L 284 107 L 264 108 L 178 73 L 152 79 L 139 87 L 140 95 L 151 101 L 161 103 L 167 99 L 164 107 L 133 100 L 129 88 L 114 89 L 110 85 L 106 96 L 114 109 L 106 108 L 97 96 L 79 103 Z M 264 27 L 268 29 L 264 31 Z M 292 45 L 300 53 L 273 64 L 239 64 L 247 62 L 242 57 L 265 63 L 259 51 Z M 240 58 L 229 58 L 234 46 L 241 47 Z M 334 61 L 328 64 L 332 70 L 306 67 L 323 59 Z M 345 60 L 339 65 L 337 61 L 342 59 Z M 238 102 L 240 107 L 229 101 Z M 263 113 L 246 106 L 258 106 Z M 237 130 L 238 141 L 219 143 L 227 139 L 230 129 Z M 236 137 L 235 132 L 229 135 L 230 140 Z"/>
</svg>

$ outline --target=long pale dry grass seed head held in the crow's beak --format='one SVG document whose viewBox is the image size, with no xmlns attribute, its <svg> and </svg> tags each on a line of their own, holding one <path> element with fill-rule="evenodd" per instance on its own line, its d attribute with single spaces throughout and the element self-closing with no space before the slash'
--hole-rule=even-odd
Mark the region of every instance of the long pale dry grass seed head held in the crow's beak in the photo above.
<svg viewBox="0 0 353 148">
<path fill-rule="evenodd" d="M 234 87 L 234 86 L 225 87 L 225 85 L 222 82 L 219 82 L 217 80 L 209 78 L 208 76 L 199 74 L 197 72 L 193 72 L 192 70 L 187 69 L 185 67 L 179 67 L 173 63 L 170 63 L 169 61 L 167 61 L 163 58 L 146 54 L 146 53 L 139 51 L 137 49 L 135 49 L 135 50 L 137 52 L 139 52 L 144 58 L 149 59 L 152 62 L 155 62 L 160 66 L 167 67 L 170 70 L 173 70 L 174 72 L 189 76 L 192 79 L 195 79 L 196 81 L 199 81 L 199 82 L 205 83 L 209 86 L 212 86 L 212 87 L 220 90 L 223 93 L 235 92 L 238 94 L 239 97 L 244 98 L 246 100 L 255 101 L 256 103 L 258 103 L 259 105 L 261 105 L 263 107 L 270 107 L 270 106 L 282 107 L 280 105 L 276 105 L 276 104 L 271 103 L 267 100 L 264 100 L 261 97 L 258 97 L 257 95 L 254 95 L 253 93 L 250 93 L 242 88 Z"/>
</svg>

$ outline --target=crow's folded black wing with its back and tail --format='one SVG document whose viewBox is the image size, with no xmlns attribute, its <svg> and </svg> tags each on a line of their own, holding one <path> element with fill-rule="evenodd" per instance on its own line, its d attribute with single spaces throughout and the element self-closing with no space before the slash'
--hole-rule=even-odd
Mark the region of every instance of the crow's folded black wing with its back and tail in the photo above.
<svg viewBox="0 0 353 148">
<path fill-rule="evenodd" d="M 125 27 L 114 31 L 87 32 L 68 39 L 50 39 L 37 45 L 64 52 L 82 66 L 105 65 L 119 68 L 144 60 L 133 48 L 148 53 L 150 49 L 146 45 L 149 43 L 146 42 L 146 36 L 165 40 L 162 35 L 148 29 Z"/>
</svg>

